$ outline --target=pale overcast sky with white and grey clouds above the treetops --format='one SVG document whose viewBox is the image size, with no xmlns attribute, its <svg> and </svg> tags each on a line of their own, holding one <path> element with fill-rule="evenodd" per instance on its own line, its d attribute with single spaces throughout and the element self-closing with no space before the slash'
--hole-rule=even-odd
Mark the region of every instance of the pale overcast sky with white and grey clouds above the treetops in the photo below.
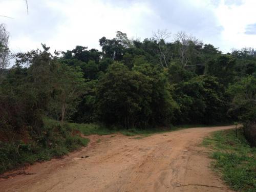
<svg viewBox="0 0 256 192">
<path fill-rule="evenodd" d="M 116 31 L 143 40 L 158 29 L 191 33 L 223 52 L 256 48 L 255 0 L 0 0 L 0 23 L 10 48 L 27 51 L 45 43 L 52 50 L 99 47 Z M 169 40 L 172 40 L 170 38 Z"/>
</svg>

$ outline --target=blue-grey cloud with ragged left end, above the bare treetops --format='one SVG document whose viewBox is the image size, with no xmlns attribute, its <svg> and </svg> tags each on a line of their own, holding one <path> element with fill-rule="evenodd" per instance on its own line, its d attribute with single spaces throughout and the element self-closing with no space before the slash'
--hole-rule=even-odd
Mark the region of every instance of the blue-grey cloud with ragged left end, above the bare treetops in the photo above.
<svg viewBox="0 0 256 192">
<path fill-rule="evenodd" d="M 218 19 L 211 9 L 211 6 L 196 5 L 193 1 L 105 0 L 104 2 L 122 8 L 135 3 L 146 3 L 155 14 L 155 18 L 138 18 L 143 19 L 147 24 L 151 25 L 141 26 L 144 30 L 149 31 L 147 34 L 157 29 L 167 29 L 173 33 L 185 31 L 198 38 L 212 42 L 213 40 L 217 40 L 224 30 L 224 28 L 217 23 Z M 209 0 L 209 4 L 215 7 L 217 7 L 219 3 L 220 0 Z"/>
</svg>

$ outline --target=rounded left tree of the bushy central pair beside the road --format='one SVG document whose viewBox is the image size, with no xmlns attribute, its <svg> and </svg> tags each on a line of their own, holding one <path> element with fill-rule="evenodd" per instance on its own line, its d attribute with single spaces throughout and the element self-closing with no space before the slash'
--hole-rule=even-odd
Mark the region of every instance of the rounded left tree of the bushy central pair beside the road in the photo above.
<svg viewBox="0 0 256 192">
<path fill-rule="evenodd" d="M 108 125 L 121 125 L 127 129 L 143 126 L 151 114 L 151 92 L 148 77 L 139 72 L 129 71 L 122 63 L 113 63 L 99 80 L 97 87 L 99 120 Z"/>
</svg>

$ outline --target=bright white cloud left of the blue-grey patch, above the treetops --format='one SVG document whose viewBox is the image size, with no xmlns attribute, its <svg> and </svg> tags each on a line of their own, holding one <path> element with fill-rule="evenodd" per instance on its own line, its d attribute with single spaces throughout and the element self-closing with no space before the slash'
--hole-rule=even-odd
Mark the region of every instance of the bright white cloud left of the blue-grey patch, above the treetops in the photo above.
<svg viewBox="0 0 256 192">
<path fill-rule="evenodd" d="M 127 7 L 95 0 L 64 4 L 48 1 L 48 5 L 66 13 L 66 18 L 58 25 L 58 34 L 50 40 L 50 45 L 59 44 L 58 49 L 71 49 L 76 45 L 99 48 L 99 38 L 112 38 L 117 30 L 136 35 L 136 28 L 139 32 L 140 26 L 145 26 L 144 18 L 153 14 L 145 4 L 136 2 Z"/>
</svg>

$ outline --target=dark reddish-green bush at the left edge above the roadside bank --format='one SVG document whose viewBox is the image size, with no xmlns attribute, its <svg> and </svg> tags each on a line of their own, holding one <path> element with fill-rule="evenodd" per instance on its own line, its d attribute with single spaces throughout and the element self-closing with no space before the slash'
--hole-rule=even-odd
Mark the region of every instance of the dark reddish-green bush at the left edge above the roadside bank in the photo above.
<svg viewBox="0 0 256 192">
<path fill-rule="evenodd" d="M 0 133 L 7 140 L 31 127 L 39 133 L 42 126 L 41 110 L 46 109 L 47 98 L 31 86 L 27 76 L 27 69 L 11 69 L 0 87 Z"/>
</svg>

